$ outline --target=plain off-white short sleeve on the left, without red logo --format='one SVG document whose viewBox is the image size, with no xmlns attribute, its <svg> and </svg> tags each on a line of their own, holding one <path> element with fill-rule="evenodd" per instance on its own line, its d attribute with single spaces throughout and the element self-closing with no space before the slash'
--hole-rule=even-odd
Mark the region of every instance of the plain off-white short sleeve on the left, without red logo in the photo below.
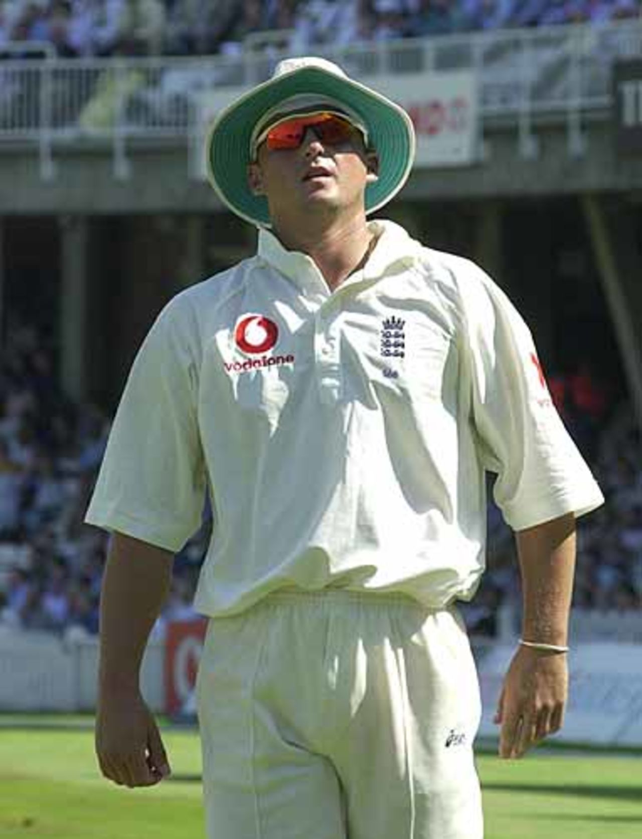
<svg viewBox="0 0 642 839">
<path fill-rule="evenodd" d="M 158 316 L 133 362 L 85 516 L 174 552 L 199 528 L 206 487 L 197 359 L 177 303 Z"/>
</svg>

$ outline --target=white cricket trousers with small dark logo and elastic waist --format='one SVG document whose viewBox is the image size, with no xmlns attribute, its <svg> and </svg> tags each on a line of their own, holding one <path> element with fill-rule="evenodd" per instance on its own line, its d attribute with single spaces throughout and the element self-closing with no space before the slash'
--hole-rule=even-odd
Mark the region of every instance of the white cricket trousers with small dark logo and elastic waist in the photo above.
<svg viewBox="0 0 642 839">
<path fill-rule="evenodd" d="M 277 593 L 210 620 L 209 839 L 481 839 L 479 683 L 454 608 Z"/>
</svg>

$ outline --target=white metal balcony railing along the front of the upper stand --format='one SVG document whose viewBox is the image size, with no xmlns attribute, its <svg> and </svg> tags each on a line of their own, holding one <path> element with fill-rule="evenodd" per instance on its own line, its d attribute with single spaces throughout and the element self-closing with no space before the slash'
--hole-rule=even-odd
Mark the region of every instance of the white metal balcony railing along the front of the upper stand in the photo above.
<svg viewBox="0 0 642 839">
<path fill-rule="evenodd" d="M 497 121 L 515 125 L 521 154 L 531 156 L 537 149 L 536 124 L 564 121 L 569 152 L 582 154 L 586 115 L 606 113 L 611 104 L 614 60 L 642 55 L 642 21 L 315 51 L 356 78 L 474 69 L 483 127 Z M 54 145 L 107 141 L 116 176 L 126 176 L 126 144 L 132 138 L 178 140 L 193 149 L 199 95 L 263 81 L 282 55 L 248 50 L 211 58 L 0 60 L 0 143 L 37 143 L 41 173 L 48 178 L 54 174 Z"/>
</svg>

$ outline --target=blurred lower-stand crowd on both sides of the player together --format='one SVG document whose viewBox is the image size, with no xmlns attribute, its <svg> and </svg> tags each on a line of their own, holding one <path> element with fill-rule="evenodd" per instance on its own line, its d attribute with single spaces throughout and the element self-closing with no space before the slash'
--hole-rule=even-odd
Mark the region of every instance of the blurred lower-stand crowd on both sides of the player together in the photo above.
<svg viewBox="0 0 642 839">
<path fill-rule="evenodd" d="M 0 624 L 96 633 L 107 538 L 83 524 L 110 420 L 57 386 L 54 348 L 30 327 L 9 332 L 0 364 Z M 608 498 L 578 529 L 574 604 L 642 609 L 642 438 L 626 403 L 584 366 L 551 376 L 551 396 Z M 194 586 L 210 514 L 178 555 L 158 623 L 195 617 Z M 492 504 L 489 568 L 466 609 L 475 633 L 493 635 L 503 603 L 519 603 L 515 542 Z"/>
</svg>

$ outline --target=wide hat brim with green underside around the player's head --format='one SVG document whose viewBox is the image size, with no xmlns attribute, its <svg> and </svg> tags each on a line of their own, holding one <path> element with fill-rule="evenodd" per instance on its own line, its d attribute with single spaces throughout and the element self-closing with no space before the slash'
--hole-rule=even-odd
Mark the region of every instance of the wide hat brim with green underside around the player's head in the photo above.
<svg viewBox="0 0 642 839">
<path fill-rule="evenodd" d="M 266 198 L 254 195 L 247 182 L 252 128 L 269 108 L 301 93 L 331 96 L 360 115 L 379 158 L 379 177 L 365 187 L 365 211 L 374 212 L 390 201 L 406 182 L 415 156 L 410 117 L 386 96 L 318 67 L 302 67 L 265 81 L 215 118 L 205 150 L 207 176 L 221 201 L 247 221 L 270 227 Z"/>
</svg>

